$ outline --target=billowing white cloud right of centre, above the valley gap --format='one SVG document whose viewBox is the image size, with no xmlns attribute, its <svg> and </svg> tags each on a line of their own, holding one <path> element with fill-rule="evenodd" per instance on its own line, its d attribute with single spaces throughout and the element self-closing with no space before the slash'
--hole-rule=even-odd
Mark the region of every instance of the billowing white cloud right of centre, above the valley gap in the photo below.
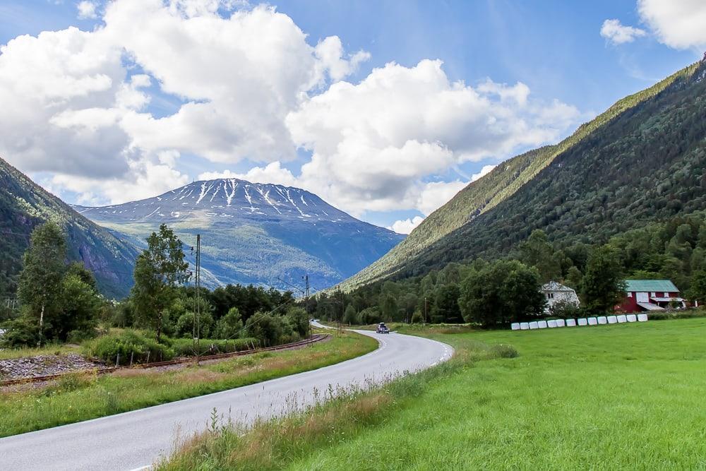
<svg viewBox="0 0 706 471">
<path fill-rule="evenodd" d="M 467 182 L 425 185 L 424 177 L 554 141 L 578 114 L 532 100 L 523 83 L 451 82 L 441 61 L 424 60 L 376 68 L 357 85 L 335 83 L 286 122 L 294 141 L 313 152 L 301 171 L 307 189 L 354 214 L 429 214 Z"/>
</svg>

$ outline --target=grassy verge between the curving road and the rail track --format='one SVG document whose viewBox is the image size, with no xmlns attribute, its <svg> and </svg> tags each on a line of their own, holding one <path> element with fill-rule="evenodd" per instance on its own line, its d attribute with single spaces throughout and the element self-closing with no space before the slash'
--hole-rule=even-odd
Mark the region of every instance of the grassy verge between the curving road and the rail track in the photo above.
<svg viewBox="0 0 706 471">
<path fill-rule="evenodd" d="M 354 333 L 299 350 L 263 352 L 174 371 L 70 374 L 49 386 L 0 394 L 0 436 L 56 427 L 247 386 L 343 362 L 375 350 Z"/>
</svg>

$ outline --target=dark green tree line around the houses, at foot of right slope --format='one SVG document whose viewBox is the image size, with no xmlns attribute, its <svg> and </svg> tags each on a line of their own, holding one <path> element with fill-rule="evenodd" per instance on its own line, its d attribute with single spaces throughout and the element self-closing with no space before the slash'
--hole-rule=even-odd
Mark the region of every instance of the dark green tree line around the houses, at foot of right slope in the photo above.
<svg viewBox="0 0 706 471">
<path fill-rule="evenodd" d="M 684 297 L 706 302 L 703 213 L 623 232 L 606 244 L 560 246 L 536 229 L 503 258 L 448 263 L 424 276 L 386 280 L 346 294 L 324 294 L 314 310 L 321 318 L 351 324 L 473 322 L 496 326 L 547 315 L 611 312 L 623 299 L 626 279 L 669 279 Z M 546 314 L 540 288 L 550 280 L 574 288 L 580 308 L 557 304 Z"/>
</svg>

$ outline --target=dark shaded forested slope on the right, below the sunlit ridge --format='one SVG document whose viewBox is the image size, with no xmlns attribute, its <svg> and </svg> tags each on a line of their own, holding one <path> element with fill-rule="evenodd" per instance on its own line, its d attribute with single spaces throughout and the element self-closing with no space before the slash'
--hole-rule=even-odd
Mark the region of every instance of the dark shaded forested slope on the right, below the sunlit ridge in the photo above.
<svg viewBox="0 0 706 471">
<path fill-rule="evenodd" d="M 561 245 L 706 208 L 706 61 L 559 153 L 512 196 L 408 261 L 401 276 L 506 254 L 533 229 Z"/>
</svg>

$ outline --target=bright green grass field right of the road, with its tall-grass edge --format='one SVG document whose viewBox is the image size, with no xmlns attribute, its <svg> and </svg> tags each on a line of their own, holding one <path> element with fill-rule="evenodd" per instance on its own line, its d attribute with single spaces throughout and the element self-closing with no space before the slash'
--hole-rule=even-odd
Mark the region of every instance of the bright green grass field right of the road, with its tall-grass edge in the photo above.
<svg viewBox="0 0 706 471">
<path fill-rule="evenodd" d="M 457 358 L 243 436 L 208 432 L 161 467 L 706 468 L 704 318 L 430 336 Z"/>
</svg>

